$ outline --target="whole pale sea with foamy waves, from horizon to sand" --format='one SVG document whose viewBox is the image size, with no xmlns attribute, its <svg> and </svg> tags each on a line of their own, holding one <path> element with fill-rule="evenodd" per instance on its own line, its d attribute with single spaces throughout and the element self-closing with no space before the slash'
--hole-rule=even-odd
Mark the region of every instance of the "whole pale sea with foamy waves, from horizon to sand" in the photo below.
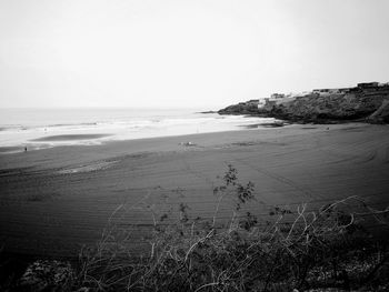
<svg viewBox="0 0 389 292">
<path fill-rule="evenodd" d="M 200 109 L 0 109 L 0 153 L 257 128 L 271 118 Z"/>
</svg>

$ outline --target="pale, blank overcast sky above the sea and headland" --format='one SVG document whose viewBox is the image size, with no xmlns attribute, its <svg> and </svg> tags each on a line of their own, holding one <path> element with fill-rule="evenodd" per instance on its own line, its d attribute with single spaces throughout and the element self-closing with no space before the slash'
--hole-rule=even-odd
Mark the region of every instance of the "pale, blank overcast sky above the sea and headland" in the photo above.
<svg viewBox="0 0 389 292">
<path fill-rule="evenodd" d="M 1 0 L 0 108 L 222 107 L 389 82 L 387 0 Z"/>
</svg>

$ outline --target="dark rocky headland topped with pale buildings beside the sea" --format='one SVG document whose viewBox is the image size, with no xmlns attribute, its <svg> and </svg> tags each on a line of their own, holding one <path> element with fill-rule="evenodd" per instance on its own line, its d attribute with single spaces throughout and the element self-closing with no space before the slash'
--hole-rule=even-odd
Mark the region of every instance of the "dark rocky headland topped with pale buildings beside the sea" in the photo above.
<svg viewBox="0 0 389 292">
<path fill-rule="evenodd" d="M 389 123 L 389 83 L 359 83 L 355 88 L 316 89 L 299 94 L 271 94 L 229 105 L 219 114 L 271 117 L 292 122 Z"/>
</svg>

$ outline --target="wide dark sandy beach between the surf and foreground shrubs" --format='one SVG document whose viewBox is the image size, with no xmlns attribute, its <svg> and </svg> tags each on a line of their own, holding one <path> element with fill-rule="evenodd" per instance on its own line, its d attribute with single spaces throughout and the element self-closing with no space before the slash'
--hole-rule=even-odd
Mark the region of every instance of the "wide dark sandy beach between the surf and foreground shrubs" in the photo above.
<svg viewBox="0 0 389 292">
<path fill-rule="evenodd" d="M 197 145 L 183 147 L 191 141 Z M 250 209 L 360 195 L 385 208 L 389 193 L 389 127 L 291 125 L 269 130 L 62 147 L 0 155 L 0 236 L 10 252 L 74 254 L 101 235 L 126 205 L 121 225 L 138 224 L 132 244 L 156 217 L 188 203 L 210 218 L 216 177 L 232 163 L 256 184 Z M 228 203 L 220 218 L 230 218 Z M 143 243 L 140 245 L 139 243 Z"/>
</svg>

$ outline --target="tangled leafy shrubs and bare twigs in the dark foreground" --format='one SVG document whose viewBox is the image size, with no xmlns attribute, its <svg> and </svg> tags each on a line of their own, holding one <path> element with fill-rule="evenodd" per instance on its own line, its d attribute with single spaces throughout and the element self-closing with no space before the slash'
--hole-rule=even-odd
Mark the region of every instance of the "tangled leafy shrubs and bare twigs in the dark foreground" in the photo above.
<svg viewBox="0 0 389 292">
<path fill-rule="evenodd" d="M 174 222 L 153 214 L 147 255 L 133 254 L 129 230 L 110 220 L 97 245 L 81 251 L 77 269 L 41 261 L 30 275 L 41 271 L 46 291 L 389 290 L 388 242 L 367 228 L 386 226 L 388 209 L 351 197 L 318 210 L 275 207 L 262 222 L 245 209 L 256 200 L 255 185 L 241 183 L 232 165 L 221 179 L 211 220 L 191 218 L 186 204 Z M 233 205 L 228 222 L 218 219 L 226 200 Z M 44 265 L 54 268 L 44 274 Z M 26 276 L 19 286 L 37 290 Z"/>
</svg>

